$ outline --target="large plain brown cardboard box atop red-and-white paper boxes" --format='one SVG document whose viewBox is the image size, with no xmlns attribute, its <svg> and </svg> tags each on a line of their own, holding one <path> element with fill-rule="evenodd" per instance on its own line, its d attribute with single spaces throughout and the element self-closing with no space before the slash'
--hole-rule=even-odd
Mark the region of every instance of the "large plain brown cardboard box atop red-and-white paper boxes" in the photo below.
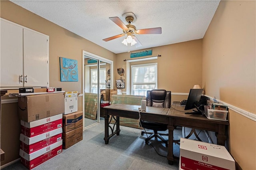
<svg viewBox="0 0 256 170">
<path fill-rule="evenodd" d="M 18 115 L 32 122 L 64 113 L 64 94 L 49 93 L 18 97 Z"/>
</svg>

